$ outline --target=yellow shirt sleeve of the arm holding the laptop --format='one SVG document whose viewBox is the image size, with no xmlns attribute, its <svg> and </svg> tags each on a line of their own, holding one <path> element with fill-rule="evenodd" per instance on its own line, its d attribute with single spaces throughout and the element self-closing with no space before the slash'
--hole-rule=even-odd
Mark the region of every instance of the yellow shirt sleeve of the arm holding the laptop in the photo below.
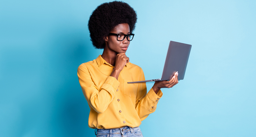
<svg viewBox="0 0 256 137">
<path fill-rule="evenodd" d="M 139 81 L 141 80 L 145 80 L 142 69 L 140 70 Z M 152 88 L 147 93 L 146 83 L 138 84 L 135 107 L 141 121 L 156 110 L 156 105 L 162 95 L 161 90 L 156 94 Z"/>
</svg>

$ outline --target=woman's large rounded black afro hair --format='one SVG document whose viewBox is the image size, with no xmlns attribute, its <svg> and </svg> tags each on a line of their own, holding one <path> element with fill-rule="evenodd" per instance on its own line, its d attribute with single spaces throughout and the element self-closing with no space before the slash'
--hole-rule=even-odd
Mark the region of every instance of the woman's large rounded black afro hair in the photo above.
<svg viewBox="0 0 256 137">
<path fill-rule="evenodd" d="M 104 49 L 105 40 L 110 31 L 118 24 L 128 23 L 130 32 L 135 29 L 137 14 L 134 9 L 125 2 L 113 1 L 99 5 L 90 16 L 88 29 L 93 46 L 96 49 Z"/>
</svg>

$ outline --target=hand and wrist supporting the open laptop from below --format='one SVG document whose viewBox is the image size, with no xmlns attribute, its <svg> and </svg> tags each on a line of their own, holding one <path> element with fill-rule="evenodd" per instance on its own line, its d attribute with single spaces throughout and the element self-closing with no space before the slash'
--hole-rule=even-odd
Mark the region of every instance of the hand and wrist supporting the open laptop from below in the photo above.
<svg viewBox="0 0 256 137">
<path fill-rule="evenodd" d="M 158 81 L 153 85 L 153 90 L 157 94 L 161 88 L 170 88 L 178 83 L 178 71 L 175 72 L 174 76 L 169 81 Z"/>
</svg>

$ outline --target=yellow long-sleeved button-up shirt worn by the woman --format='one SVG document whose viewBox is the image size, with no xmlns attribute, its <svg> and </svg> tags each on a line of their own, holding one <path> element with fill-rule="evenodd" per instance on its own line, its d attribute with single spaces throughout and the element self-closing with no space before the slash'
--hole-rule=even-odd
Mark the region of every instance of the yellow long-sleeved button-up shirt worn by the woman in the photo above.
<svg viewBox="0 0 256 137">
<path fill-rule="evenodd" d="M 161 90 L 156 94 L 152 88 L 147 93 L 145 83 L 127 83 L 145 80 L 139 66 L 127 63 L 118 80 L 110 76 L 113 68 L 101 55 L 78 67 L 78 79 L 90 107 L 90 128 L 138 127 L 156 110 L 163 95 Z"/>
</svg>

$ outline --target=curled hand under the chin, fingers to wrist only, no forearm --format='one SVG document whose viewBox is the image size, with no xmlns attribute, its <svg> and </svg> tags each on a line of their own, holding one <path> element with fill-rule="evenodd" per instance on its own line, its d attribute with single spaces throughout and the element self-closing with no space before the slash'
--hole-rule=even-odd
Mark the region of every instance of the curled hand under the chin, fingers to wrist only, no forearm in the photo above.
<svg viewBox="0 0 256 137">
<path fill-rule="evenodd" d="M 116 64 L 114 70 L 121 71 L 123 70 L 126 63 L 129 63 L 129 58 L 125 55 L 125 53 L 119 53 L 116 55 Z"/>
</svg>

